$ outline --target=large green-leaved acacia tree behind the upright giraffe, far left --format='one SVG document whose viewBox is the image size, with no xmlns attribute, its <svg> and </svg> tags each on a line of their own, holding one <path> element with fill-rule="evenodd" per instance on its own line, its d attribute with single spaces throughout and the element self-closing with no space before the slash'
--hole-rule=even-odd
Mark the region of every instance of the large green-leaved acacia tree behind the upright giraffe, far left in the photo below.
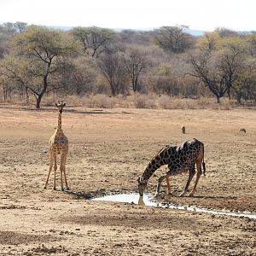
<svg viewBox="0 0 256 256">
<path fill-rule="evenodd" d="M 16 79 L 36 98 L 36 108 L 40 108 L 42 97 L 50 90 L 63 87 L 61 70 L 68 71 L 68 57 L 78 51 L 72 38 L 66 33 L 53 31 L 47 27 L 30 26 L 17 35 L 12 44 L 12 52 L 6 55 L 4 65 L 6 77 Z"/>
</svg>

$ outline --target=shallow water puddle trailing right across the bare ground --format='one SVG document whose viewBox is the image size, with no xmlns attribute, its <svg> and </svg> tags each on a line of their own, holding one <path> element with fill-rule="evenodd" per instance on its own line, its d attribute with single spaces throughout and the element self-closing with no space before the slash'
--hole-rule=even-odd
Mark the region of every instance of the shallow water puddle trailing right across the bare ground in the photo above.
<svg viewBox="0 0 256 256">
<path fill-rule="evenodd" d="M 143 197 L 138 194 L 118 194 L 118 195 L 105 195 L 102 197 L 96 197 L 91 199 L 92 201 L 115 201 L 115 202 L 123 202 L 123 203 L 131 203 L 138 204 L 148 207 L 162 207 L 162 208 L 170 208 L 175 210 L 183 210 L 189 212 L 204 212 L 210 213 L 213 215 L 227 215 L 233 217 L 246 217 L 246 218 L 254 218 L 256 219 L 256 213 L 252 212 L 230 212 L 227 210 L 212 210 L 201 207 L 191 207 L 191 206 L 183 206 L 183 205 L 175 205 L 169 202 L 159 202 L 155 201 L 154 198 L 148 194 L 144 194 Z"/>
</svg>

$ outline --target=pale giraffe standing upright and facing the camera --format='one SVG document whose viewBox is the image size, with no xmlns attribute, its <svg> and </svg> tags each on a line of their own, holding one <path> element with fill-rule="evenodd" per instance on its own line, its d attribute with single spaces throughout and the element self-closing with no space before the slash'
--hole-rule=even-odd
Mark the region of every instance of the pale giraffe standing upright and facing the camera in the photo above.
<svg viewBox="0 0 256 256">
<path fill-rule="evenodd" d="M 67 160 L 67 151 L 68 151 L 68 140 L 67 137 L 64 135 L 64 132 L 61 129 L 61 114 L 63 111 L 63 108 L 66 106 L 66 103 L 58 102 L 55 103 L 55 106 L 58 108 L 59 116 L 58 116 L 58 127 L 53 134 L 52 137 L 49 139 L 49 173 L 48 177 L 46 179 L 46 183 L 44 185 L 44 189 L 47 187 L 47 183 L 49 181 L 49 174 L 52 170 L 52 167 L 54 166 L 54 190 L 56 189 L 56 170 L 57 170 L 57 154 L 61 154 L 61 165 L 60 165 L 60 171 L 61 171 L 61 190 L 63 191 L 63 181 L 62 181 L 62 174 L 64 174 L 66 188 L 69 190 L 69 187 L 67 185 L 67 176 L 66 176 L 66 160 Z"/>
</svg>

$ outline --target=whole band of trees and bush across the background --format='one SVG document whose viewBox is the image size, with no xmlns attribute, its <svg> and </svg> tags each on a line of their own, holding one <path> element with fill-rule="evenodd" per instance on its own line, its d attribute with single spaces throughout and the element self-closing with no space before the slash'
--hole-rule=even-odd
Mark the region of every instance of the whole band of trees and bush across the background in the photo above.
<svg viewBox="0 0 256 256">
<path fill-rule="evenodd" d="M 256 33 L 218 28 L 195 37 L 185 26 L 153 31 L 96 26 L 68 31 L 24 22 L 0 26 L 3 100 L 154 92 L 256 102 Z"/>
</svg>

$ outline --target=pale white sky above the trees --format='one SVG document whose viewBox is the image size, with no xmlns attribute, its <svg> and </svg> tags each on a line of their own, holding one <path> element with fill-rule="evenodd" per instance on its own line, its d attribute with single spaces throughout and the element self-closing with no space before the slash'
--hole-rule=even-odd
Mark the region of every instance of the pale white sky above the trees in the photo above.
<svg viewBox="0 0 256 256">
<path fill-rule="evenodd" d="M 0 24 L 256 31 L 255 0 L 0 0 Z"/>
</svg>

